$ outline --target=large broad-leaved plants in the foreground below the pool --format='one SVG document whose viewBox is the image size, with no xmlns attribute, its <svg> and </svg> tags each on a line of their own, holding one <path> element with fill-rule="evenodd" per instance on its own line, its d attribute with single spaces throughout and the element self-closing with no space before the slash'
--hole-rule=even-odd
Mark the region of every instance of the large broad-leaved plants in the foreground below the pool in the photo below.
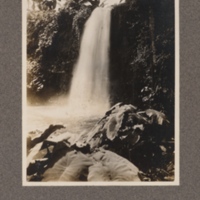
<svg viewBox="0 0 200 200">
<path fill-rule="evenodd" d="M 118 103 L 90 131 L 50 125 L 27 138 L 29 181 L 173 181 L 169 121 Z M 33 139 L 31 139 L 33 138 Z M 139 171 L 140 170 L 140 171 Z"/>
</svg>

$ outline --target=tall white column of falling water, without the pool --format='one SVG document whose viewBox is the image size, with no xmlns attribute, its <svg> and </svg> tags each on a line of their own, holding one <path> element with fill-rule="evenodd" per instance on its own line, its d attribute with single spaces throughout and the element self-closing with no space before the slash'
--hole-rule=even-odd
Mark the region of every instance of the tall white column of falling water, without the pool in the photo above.
<svg viewBox="0 0 200 200">
<path fill-rule="evenodd" d="M 96 8 L 85 24 L 68 108 L 84 115 L 109 108 L 110 8 Z"/>
</svg>

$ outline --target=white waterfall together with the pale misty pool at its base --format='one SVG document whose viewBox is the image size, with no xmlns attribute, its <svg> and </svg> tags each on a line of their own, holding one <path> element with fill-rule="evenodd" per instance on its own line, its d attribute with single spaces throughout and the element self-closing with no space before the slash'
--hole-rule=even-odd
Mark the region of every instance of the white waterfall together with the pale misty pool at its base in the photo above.
<svg viewBox="0 0 200 200">
<path fill-rule="evenodd" d="M 68 96 L 27 108 L 27 131 L 62 124 L 70 132 L 90 130 L 109 109 L 110 8 L 96 8 L 85 24 Z"/>
</svg>

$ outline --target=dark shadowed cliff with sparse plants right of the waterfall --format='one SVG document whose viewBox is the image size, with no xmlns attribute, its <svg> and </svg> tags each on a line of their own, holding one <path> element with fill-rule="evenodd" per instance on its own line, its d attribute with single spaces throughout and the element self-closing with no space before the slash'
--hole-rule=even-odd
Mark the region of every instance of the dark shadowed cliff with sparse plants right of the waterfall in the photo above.
<svg viewBox="0 0 200 200">
<path fill-rule="evenodd" d="M 112 10 L 112 103 L 173 113 L 174 1 L 127 1 Z"/>
</svg>

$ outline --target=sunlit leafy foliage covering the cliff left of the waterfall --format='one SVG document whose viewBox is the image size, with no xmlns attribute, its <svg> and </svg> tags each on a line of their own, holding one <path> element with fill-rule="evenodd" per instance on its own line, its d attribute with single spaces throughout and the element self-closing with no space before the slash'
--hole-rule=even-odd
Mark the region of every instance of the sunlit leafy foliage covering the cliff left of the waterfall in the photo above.
<svg viewBox="0 0 200 200">
<path fill-rule="evenodd" d="M 58 12 L 29 11 L 27 83 L 32 101 L 68 91 L 83 27 L 93 8 L 72 0 Z"/>
</svg>

